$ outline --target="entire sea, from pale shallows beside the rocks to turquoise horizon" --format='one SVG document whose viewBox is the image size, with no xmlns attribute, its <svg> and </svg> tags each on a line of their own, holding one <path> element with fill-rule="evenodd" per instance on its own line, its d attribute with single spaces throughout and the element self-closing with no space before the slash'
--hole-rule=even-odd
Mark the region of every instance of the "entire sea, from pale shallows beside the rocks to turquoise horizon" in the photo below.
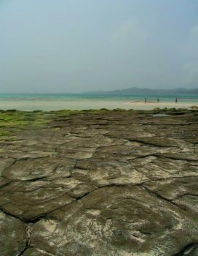
<svg viewBox="0 0 198 256">
<path fill-rule="evenodd" d="M 100 108 L 151 109 L 175 103 L 197 105 L 198 95 L 174 94 L 0 94 L 0 109 L 17 110 L 87 110 Z M 147 105 L 143 102 L 147 99 Z M 159 98 L 159 105 L 157 105 Z M 150 105 L 149 105 L 150 103 Z M 152 104 L 154 103 L 154 104 Z M 141 106 L 140 106 L 141 104 Z"/>
</svg>

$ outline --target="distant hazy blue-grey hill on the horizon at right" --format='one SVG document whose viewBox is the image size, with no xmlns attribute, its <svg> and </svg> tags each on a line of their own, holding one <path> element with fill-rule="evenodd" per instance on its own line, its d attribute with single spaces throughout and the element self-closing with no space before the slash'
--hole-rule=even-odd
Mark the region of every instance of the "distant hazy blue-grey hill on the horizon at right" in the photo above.
<svg viewBox="0 0 198 256">
<path fill-rule="evenodd" d="M 147 89 L 147 88 L 137 88 L 132 87 L 128 89 L 122 89 L 122 90 L 114 90 L 114 91 L 95 91 L 90 93 L 98 93 L 98 94 L 198 94 L 198 88 L 197 89 L 184 89 L 184 88 L 178 88 L 178 89 Z"/>
</svg>

